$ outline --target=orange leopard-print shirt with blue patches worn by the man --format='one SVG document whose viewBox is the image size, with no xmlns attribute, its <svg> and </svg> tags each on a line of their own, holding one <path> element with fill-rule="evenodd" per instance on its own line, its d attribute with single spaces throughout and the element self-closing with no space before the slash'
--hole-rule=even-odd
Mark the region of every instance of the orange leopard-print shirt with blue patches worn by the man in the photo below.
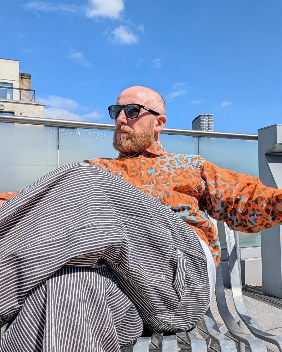
<svg viewBox="0 0 282 352">
<path fill-rule="evenodd" d="M 256 233 L 282 221 L 281 190 L 265 187 L 257 177 L 222 169 L 198 155 L 167 153 L 161 142 L 134 156 L 95 158 L 85 162 L 121 177 L 157 199 L 192 226 L 219 264 L 218 234 L 204 210 L 231 229 Z M 2 193 L 9 199 L 18 192 Z"/>
</svg>

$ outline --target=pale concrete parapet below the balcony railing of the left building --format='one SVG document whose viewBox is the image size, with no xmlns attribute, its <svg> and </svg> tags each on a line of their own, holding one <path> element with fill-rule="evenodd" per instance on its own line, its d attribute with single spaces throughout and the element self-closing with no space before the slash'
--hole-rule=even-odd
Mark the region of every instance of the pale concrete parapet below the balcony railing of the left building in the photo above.
<svg viewBox="0 0 282 352">
<path fill-rule="evenodd" d="M 0 104 L 5 106 L 4 111 L 13 112 L 17 116 L 43 117 L 44 115 L 44 103 L 0 99 Z"/>
</svg>

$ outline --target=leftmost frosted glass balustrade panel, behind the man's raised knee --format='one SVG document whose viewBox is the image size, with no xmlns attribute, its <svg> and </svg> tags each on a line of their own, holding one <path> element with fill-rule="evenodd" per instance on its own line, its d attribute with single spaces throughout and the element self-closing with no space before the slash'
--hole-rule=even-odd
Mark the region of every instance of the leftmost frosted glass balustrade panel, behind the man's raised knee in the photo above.
<svg viewBox="0 0 282 352">
<path fill-rule="evenodd" d="M 0 193 L 21 190 L 57 167 L 57 127 L 0 122 Z"/>
</svg>

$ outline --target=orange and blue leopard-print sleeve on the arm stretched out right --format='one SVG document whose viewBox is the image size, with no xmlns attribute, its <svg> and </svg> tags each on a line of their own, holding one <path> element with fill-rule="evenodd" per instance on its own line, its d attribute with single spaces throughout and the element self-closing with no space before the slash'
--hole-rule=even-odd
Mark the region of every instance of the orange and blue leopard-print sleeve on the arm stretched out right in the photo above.
<svg viewBox="0 0 282 352">
<path fill-rule="evenodd" d="M 201 159 L 204 195 L 199 203 L 232 230 L 256 233 L 282 221 L 282 189 L 264 186 L 258 177 L 222 169 Z"/>
</svg>

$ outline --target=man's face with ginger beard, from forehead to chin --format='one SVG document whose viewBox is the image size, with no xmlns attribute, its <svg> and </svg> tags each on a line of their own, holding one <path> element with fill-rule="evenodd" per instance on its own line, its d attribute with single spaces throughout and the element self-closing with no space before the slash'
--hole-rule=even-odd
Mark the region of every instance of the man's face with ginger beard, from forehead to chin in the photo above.
<svg viewBox="0 0 282 352">
<path fill-rule="evenodd" d="M 137 103 L 150 107 L 150 101 L 146 93 L 127 89 L 119 95 L 118 105 Z M 155 116 L 146 111 L 140 110 L 136 119 L 129 119 L 125 116 L 124 110 L 121 111 L 115 120 L 115 133 L 113 146 L 119 152 L 134 154 L 144 151 L 154 142 Z"/>
</svg>

